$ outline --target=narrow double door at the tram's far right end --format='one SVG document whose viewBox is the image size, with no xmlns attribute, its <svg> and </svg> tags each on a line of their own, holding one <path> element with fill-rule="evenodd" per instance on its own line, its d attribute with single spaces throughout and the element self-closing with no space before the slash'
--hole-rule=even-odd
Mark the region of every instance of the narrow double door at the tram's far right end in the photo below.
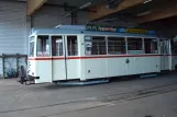
<svg viewBox="0 0 177 117">
<path fill-rule="evenodd" d="M 169 70 L 170 66 L 170 43 L 168 39 L 161 39 L 161 70 Z"/>
</svg>

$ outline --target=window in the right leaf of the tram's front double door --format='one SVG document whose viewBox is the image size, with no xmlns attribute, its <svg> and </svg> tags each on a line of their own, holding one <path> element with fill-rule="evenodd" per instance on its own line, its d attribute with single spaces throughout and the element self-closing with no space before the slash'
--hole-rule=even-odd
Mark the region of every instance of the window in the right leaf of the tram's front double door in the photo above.
<svg viewBox="0 0 177 117">
<path fill-rule="evenodd" d="M 78 55 L 78 44 L 77 36 L 67 36 L 67 50 L 68 56 L 77 56 Z"/>
</svg>

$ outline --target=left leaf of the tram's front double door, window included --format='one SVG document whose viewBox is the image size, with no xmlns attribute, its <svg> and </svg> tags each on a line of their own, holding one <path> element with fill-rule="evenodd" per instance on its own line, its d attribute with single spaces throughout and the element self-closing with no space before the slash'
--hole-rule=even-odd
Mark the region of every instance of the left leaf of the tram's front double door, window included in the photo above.
<svg viewBox="0 0 177 117">
<path fill-rule="evenodd" d="M 52 57 L 53 81 L 66 80 L 67 69 L 64 36 L 52 36 Z"/>
</svg>

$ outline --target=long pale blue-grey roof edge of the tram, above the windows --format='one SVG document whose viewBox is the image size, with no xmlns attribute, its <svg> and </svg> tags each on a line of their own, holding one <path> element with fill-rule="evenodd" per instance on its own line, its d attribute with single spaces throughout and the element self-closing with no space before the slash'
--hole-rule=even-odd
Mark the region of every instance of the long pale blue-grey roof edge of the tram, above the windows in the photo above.
<svg viewBox="0 0 177 117">
<path fill-rule="evenodd" d="M 109 35 L 109 36 L 132 36 L 132 37 L 158 37 L 157 35 L 147 35 L 147 34 L 130 34 L 130 33 L 112 33 L 112 32 L 98 32 L 98 31 L 86 31 L 86 30 L 69 30 L 69 28 L 33 28 L 32 35 Z"/>
</svg>

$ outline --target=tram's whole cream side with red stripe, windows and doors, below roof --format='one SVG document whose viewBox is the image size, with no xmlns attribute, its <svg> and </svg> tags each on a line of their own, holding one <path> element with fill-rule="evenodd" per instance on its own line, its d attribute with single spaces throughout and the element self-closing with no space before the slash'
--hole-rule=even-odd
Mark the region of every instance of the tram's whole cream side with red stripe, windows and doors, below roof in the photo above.
<svg viewBox="0 0 177 117">
<path fill-rule="evenodd" d="M 87 34 L 34 37 L 30 43 L 29 75 L 35 83 L 86 81 L 175 68 L 169 39 Z"/>
</svg>

